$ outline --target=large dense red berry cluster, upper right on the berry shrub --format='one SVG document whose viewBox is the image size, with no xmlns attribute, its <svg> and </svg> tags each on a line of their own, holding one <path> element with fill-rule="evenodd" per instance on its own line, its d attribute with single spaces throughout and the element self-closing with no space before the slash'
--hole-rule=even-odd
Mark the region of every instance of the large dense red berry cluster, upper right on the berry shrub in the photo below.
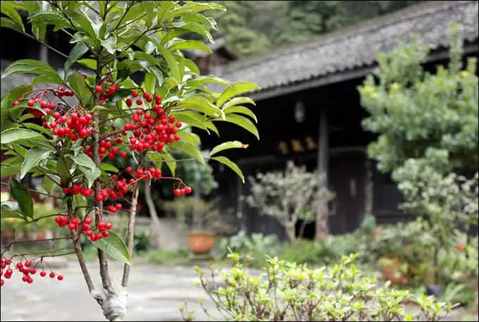
<svg viewBox="0 0 479 322">
<path fill-rule="evenodd" d="M 136 91 L 132 92 L 132 97 L 136 98 L 139 94 Z M 153 98 L 148 92 L 144 92 L 143 98 L 148 103 L 153 101 Z M 155 104 L 152 104 L 151 109 L 137 109 L 133 113 L 133 123 L 125 124 L 125 131 L 132 131 L 133 135 L 129 137 L 130 149 L 132 151 L 163 151 L 165 144 L 173 143 L 180 140 L 178 135 L 178 128 L 181 128 L 181 122 L 175 123 L 175 116 L 166 115 L 165 110 L 161 108 L 161 97 L 154 96 Z M 130 98 L 126 99 L 127 106 L 131 107 L 133 101 Z M 137 99 L 137 105 L 143 105 L 142 99 Z M 151 112 L 150 112 L 151 111 Z"/>
</svg>

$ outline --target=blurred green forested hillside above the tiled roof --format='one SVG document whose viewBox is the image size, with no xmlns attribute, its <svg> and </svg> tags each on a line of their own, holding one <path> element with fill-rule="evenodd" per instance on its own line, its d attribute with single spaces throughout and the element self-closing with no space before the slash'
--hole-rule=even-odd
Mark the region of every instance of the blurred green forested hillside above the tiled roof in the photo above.
<svg viewBox="0 0 479 322">
<path fill-rule="evenodd" d="M 419 1 L 218 1 L 218 36 L 239 55 L 261 53 Z"/>
</svg>

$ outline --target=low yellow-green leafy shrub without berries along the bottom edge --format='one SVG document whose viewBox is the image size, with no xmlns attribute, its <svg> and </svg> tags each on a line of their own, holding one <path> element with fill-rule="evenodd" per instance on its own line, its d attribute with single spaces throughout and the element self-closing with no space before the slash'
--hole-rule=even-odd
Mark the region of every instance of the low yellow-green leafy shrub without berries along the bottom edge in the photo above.
<svg viewBox="0 0 479 322">
<path fill-rule="evenodd" d="M 270 258 L 259 275 L 249 273 L 238 254 L 230 258 L 234 266 L 219 278 L 197 268 L 199 286 L 224 321 L 438 321 L 454 307 L 394 290 L 389 283 L 378 285 L 356 268 L 356 254 L 316 269 Z M 214 287 L 220 280 L 223 286 Z M 406 302 L 417 304 L 419 313 L 408 311 Z M 193 321 L 186 306 L 180 310 L 185 321 Z"/>
</svg>

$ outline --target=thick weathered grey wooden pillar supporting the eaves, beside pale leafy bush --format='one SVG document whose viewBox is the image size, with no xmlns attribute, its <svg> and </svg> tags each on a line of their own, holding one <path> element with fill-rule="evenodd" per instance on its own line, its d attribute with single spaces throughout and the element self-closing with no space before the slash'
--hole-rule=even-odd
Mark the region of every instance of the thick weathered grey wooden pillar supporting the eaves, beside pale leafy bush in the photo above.
<svg viewBox="0 0 479 322">
<path fill-rule="evenodd" d="M 328 133 L 328 111 L 322 108 L 319 119 L 318 132 L 318 172 L 321 175 L 321 185 L 328 188 L 328 162 L 329 162 L 329 133 Z M 318 205 L 316 214 L 316 240 L 322 240 L 329 234 L 328 224 L 328 203 Z"/>
</svg>

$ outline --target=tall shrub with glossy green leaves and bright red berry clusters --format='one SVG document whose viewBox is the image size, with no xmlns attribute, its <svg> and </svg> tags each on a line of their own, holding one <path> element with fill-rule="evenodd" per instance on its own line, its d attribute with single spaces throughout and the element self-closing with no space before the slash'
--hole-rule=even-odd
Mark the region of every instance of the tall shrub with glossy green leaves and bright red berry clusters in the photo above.
<svg viewBox="0 0 479 322">
<path fill-rule="evenodd" d="M 2 203 L 2 218 L 19 218 L 23 225 L 55 221 L 64 237 L 49 241 L 70 242 L 66 249 L 54 246 L 33 254 L 13 254 L 15 244 L 31 240 L 6 244 L 1 250 L 2 286 L 13 276 L 13 268 L 32 283 L 36 270 L 40 276 L 46 274 L 47 258 L 74 252 L 88 290 L 106 318 L 123 319 L 139 186 L 168 180 L 176 197 L 192 192 L 175 176 L 177 162 L 206 164 L 201 140 L 192 128 L 219 135 L 214 122 L 228 122 L 259 137 L 247 117 L 254 114 L 243 106 L 254 102 L 236 97 L 258 87 L 201 76 L 183 54 L 189 49 L 210 51 L 204 42 L 181 36 L 197 34 L 212 42 L 210 31 L 216 23 L 202 12 L 223 9 L 192 1 L 1 2 L 1 27 L 36 39 L 66 58 L 62 75 L 48 63 L 22 59 L 7 66 L 1 76 L 36 75 L 32 84 L 11 89 L 1 100 L 1 149 L 9 156 L 1 163 L 1 175 L 11 177 L 13 197 Z M 28 27 L 20 11 L 27 16 Z M 65 33 L 75 44 L 70 53 L 46 44 L 46 30 Z M 80 66 L 86 73 L 77 70 Z M 144 75 L 143 84 L 132 75 Z M 211 92 L 211 82 L 223 85 L 223 92 Z M 232 168 L 244 181 L 235 163 L 218 156 L 225 149 L 244 147 L 237 141 L 223 142 L 213 147 L 208 159 Z M 173 151 L 189 158 L 176 160 Z M 127 158 L 134 166 L 126 166 Z M 163 175 L 165 165 L 172 175 Z M 42 178 L 44 194 L 58 200 L 55 219 L 34 217 L 32 189 L 22 182 L 28 177 Z M 128 212 L 126 242 L 108 220 L 120 211 Z M 101 286 L 94 285 L 85 264 L 82 244 L 89 242 L 98 250 Z M 106 255 L 125 263 L 121 285 L 113 283 Z M 63 279 L 56 272 L 49 276 Z"/>
</svg>

